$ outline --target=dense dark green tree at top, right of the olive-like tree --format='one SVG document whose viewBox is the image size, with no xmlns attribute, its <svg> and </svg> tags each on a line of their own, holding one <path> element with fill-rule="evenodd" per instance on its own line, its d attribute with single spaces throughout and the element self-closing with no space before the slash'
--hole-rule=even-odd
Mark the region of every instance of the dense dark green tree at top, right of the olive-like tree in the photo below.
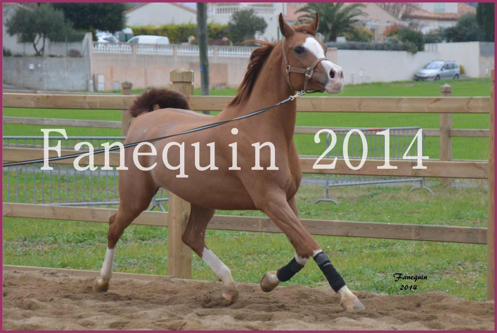
<svg viewBox="0 0 497 333">
<path fill-rule="evenodd" d="M 73 27 L 84 31 L 122 30 L 126 25 L 127 9 L 121 2 L 57 2 L 53 6 L 60 9 L 66 18 L 73 22 Z"/>
</svg>

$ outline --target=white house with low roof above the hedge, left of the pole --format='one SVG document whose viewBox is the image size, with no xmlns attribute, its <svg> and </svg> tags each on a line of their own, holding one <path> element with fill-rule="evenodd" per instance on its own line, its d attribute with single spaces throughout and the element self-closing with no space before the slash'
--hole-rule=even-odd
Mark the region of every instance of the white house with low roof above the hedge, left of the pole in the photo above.
<svg viewBox="0 0 497 333">
<path fill-rule="evenodd" d="M 197 23 L 197 10 L 179 2 L 144 2 L 124 13 L 128 26 Z"/>
</svg>

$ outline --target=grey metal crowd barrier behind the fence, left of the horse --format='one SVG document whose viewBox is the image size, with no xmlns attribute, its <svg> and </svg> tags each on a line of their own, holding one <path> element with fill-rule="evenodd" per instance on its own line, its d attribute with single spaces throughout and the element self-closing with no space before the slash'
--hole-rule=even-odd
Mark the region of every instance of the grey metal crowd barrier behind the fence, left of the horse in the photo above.
<svg viewBox="0 0 497 333">
<path fill-rule="evenodd" d="M 101 143 L 124 142 L 126 137 L 70 136 L 50 137 L 49 146 L 61 141 L 61 149 L 73 149 L 79 142 L 89 142 L 96 149 Z M 43 136 L 3 136 L 4 147 L 41 148 Z M 87 151 L 83 145 L 81 151 Z M 16 203 L 51 204 L 58 206 L 114 206 L 119 204 L 118 173 L 112 170 L 90 169 L 78 171 L 72 165 L 49 164 L 53 170 L 41 170 L 42 164 L 3 168 L 3 201 Z M 13 178 L 13 179 L 11 179 Z M 160 188 L 149 210 L 168 201 L 168 191 Z"/>
</svg>

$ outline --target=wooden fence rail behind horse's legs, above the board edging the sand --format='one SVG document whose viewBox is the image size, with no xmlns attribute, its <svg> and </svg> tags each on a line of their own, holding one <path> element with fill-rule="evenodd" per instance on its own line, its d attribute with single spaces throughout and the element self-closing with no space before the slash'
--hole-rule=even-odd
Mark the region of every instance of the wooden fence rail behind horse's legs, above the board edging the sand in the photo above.
<svg viewBox="0 0 497 333">
<path fill-rule="evenodd" d="M 179 216 L 180 221 L 187 219 L 189 212 L 185 211 L 184 207 L 179 205 L 179 203 L 176 202 L 176 204 L 177 209 L 181 211 L 179 214 L 174 214 L 174 212 L 145 211 L 133 221 L 133 224 L 170 227 L 171 225 L 174 225 L 174 223 L 169 223 L 171 216 Z M 171 209 L 172 206 L 175 206 L 175 204 L 169 202 L 169 209 Z M 107 223 L 109 217 L 116 212 L 117 209 L 110 208 L 68 207 L 3 202 L 3 216 L 11 217 Z M 311 235 L 487 244 L 487 228 L 314 219 L 301 219 L 301 222 Z M 268 217 L 234 215 L 214 215 L 209 222 L 207 229 L 282 233 Z M 169 231 L 169 233 L 170 232 L 171 231 Z M 179 238 L 176 235 L 176 237 L 170 239 L 181 240 L 181 235 L 179 235 Z"/>
</svg>

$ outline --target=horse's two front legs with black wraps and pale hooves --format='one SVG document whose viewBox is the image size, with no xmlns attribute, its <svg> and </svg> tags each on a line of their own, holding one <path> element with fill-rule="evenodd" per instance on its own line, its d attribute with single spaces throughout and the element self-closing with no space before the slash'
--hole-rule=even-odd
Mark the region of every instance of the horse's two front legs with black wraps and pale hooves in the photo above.
<svg viewBox="0 0 497 333">
<path fill-rule="evenodd" d="M 269 292 L 280 282 L 290 280 L 312 257 L 325 274 L 331 288 L 341 296 L 340 305 L 345 311 L 360 311 L 364 306 L 345 285 L 345 281 L 331 264 L 321 246 L 305 230 L 298 218 L 295 198 L 286 201 L 284 193 L 272 195 L 271 198 L 257 207 L 263 211 L 280 228 L 295 248 L 295 257 L 278 271 L 264 274 L 260 281 L 263 291 Z"/>
</svg>

